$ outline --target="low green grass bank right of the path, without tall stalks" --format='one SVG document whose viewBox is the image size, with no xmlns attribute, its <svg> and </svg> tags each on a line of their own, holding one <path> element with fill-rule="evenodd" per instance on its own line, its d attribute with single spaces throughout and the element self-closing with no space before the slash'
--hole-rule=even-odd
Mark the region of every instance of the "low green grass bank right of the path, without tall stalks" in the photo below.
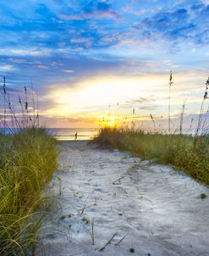
<svg viewBox="0 0 209 256">
<path fill-rule="evenodd" d="M 141 159 L 172 164 L 209 185 L 209 136 L 167 135 L 123 128 L 103 128 L 93 142 L 129 151 Z"/>
</svg>

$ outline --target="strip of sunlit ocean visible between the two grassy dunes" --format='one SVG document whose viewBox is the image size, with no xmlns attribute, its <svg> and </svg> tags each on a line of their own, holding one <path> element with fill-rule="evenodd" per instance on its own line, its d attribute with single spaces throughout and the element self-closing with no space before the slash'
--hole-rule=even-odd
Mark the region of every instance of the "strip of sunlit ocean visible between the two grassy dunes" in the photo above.
<svg viewBox="0 0 209 256">
<path fill-rule="evenodd" d="M 52 136 L 56 137 L 58 141 L 74 141 L 75 133 L 77 132 L 77 140 L 85 141 L 91 140 L 96 136 L 98 129 L 96 128 L 47 128 Z"/>
</svg>

